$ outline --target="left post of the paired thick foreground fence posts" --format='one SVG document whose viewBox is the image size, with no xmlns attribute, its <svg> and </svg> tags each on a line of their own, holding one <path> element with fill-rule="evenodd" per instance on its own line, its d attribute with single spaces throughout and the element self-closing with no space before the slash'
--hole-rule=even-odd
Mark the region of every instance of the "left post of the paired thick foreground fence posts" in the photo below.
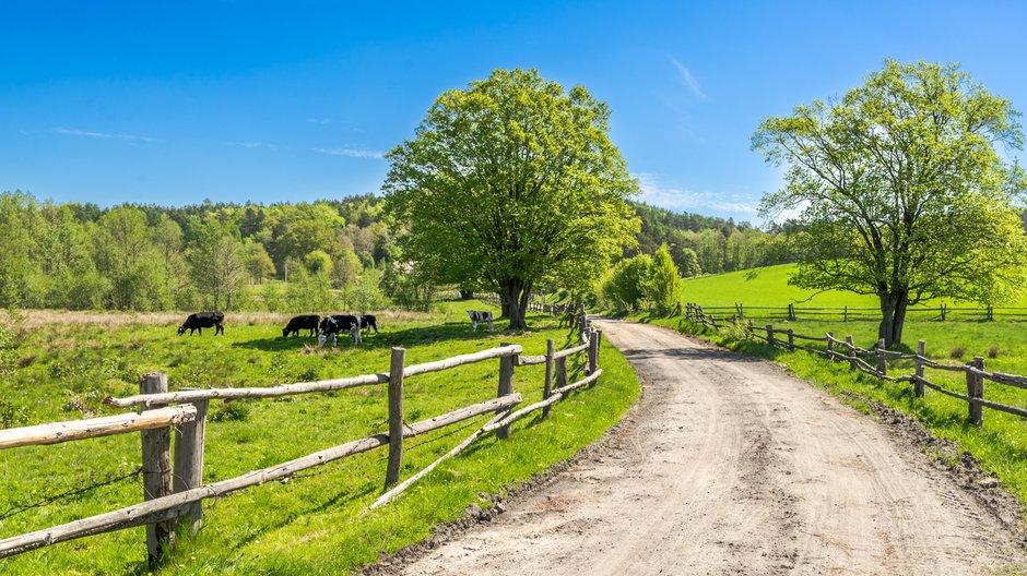
<svg viewBox="0 0 1027 576">
<path fill-rule="evenodd" d="M 139 381 L 140 394 L 167 392 L 167 374 L 151 372 Z M 154 500 L 172 493 L 172 429 L 144 430 L 142 436 L 143 500 Z M 150 567 L 156 567 L 161 556 L 175 545 L 172 521 L 146 525 L 146 556 Z"/>
</svg>

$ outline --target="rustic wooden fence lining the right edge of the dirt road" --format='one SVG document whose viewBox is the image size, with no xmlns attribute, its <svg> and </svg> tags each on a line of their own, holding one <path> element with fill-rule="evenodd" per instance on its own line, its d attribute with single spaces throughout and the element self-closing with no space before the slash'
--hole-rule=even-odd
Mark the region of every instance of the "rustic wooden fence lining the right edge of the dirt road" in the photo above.
<svg viewBox="0 0 1027 576">
<path fill-rule="evenodd" d="M 703 324 L 704 326 L 719 329 L 725 327 L 729 323 L 727 319 L 718 321 L 715 316 L 707 314 L 703 307 L 698 304 L 687 304 L 685 310 L 686 319 L 688 321 Z M 1004 374 L 1002 372 L 988 372 L 984 367 L 984 359 L 980 357 L 975 358 L 965 364 L 943 364 L 935 362 L 934 360 L 931 360 L 926 357 L 926 341 L 924 340 L 919 340 L 917 343 L 917 353 L 904 353 L 900 351 L 886 350 L 884 339 L 877 340 L 875 348 L 869 350 L 866 348 L 860 348 L 859 346 L 855 346 L 853 344 L 852 336 L 846 336 L 845 340 L 840 340 L 835 338 L 835 334 L 833 332 L 828 332 L 824 336 L 805 336 L 802 334 L 795 334 L 795 332 L 791 328 L 775 328 L 774 325 L 770 324 L 763 328 L 757 328 L 753 325 L 752 319 L 742 321 L 741 319 L 734 317 L 730 322 L 732 322 L 734 326 L 739 326 L 746 331 L 749 336 L 764 340 L 770 346 L 782 347 L 789 351 L 794 351 L 795 349 L 805 350 L 807 352 L 823 356 L 831 362 L 838 360 L 848 361 L 850 370 L 860 370 L 866 374 L 882 380 L 890 382 L 909 382 L 912 385 L 912 391 L 916 396 L 923 397 L 924 388 L 926 387 L 940 392 L 946 396 L 959 398 L 960 400 L 967 403 L 969 420 L 977 425 L 982 425 L 984 422 L 983 408 L 985 407 L 993 410 L 1019 416 L 1022 418 L 1027 418 L 1027 410 L 1024 408 L 993 403 L 984 399 L 985 380 L 1003 386 L 1013 386 L 1016 388 L 1027 389 L 1027 376 Z M 765 332 L 766 335 L 760 334 L 760 332 Z M 826 349 L 821 350 L 810 346 L 802 346 L 800 344 L 795 344 L 796 339 L 804 341 L 825 343 Z M 869 363 L 863 358 L 860 358 L 860 356 L 872 358 L 874 360 L 874 364 Z M 912 360 L 914 367 L 913 373 L 897 376 L 888 375 L 888 361 L 895 360 Z M 967 393 L 960 394 L 931 382 L 924 377 L 924 369 L 947 372 L 963 372 L 966 374 Z"/>
</svg>

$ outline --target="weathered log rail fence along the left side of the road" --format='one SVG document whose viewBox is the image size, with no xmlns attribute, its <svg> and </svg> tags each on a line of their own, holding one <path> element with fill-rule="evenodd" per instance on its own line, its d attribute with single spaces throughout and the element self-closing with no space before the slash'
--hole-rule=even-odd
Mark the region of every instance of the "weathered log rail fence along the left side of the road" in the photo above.
<svg viewBox="0 0 1027 576">
<path fill-rule="evenodd" d="M 151 565 L 156 565 L 162 554 L 174 547 L 176 525 L 182 520 L 196 531 L 200 527 L 201 502 L 219 497 L 331 461 L 389 446 L 385 484 L 387 488 L 400 479 L 403 441 L 438 430 L 457 422 L 486 415 L 495 417 L 461 442 L 457 447 L 434 461 L 428 468 L 396 485 L 375 502 L 371 507 L 388 504 L 406 487 L 434 469 L 441 460 L 459 454 L 483 434 L 494 432 L 499 439 L 510 435 L 510 424 L 518 419 L 542 410 L 548 417 L 550 407 L 565 398 L 571 391 L 597 382 L 603 371 L 599 368 L 599 347 L 602 333 L 583 322 L 579 346 L 559 350 L 551 339 L 544 355 L 524 356 L 519 345 L 501 344 L 474 353 L 456 356 L 422 364 L 404 365 L 406 350 L 392 348 L 388 372 L 361 376 L 306 382 L 273 387 L 180 389 L 168 392 L 167 376 L 163 372 L 146 374 L 140 382 L 140 394 L 126 398 L 106 398 L 108 406 L 137 407 L 140 412 L 118 416 L 57 422 L 27 428 L 0 430 L 0 449 L 17 446 L 52 444 L 79 441 L 111 434 L 140 432 L 142 434 L 143 502 L 106 514 L 74 520 L 43 530 L 0 540 L 0 557 L 27 552 L 58 542 L 82 538 L 135 526 L 146 526 L 146 549 Z M 567 358 L 586 352 L 586 377 L 567 383 Z M 449 370 L 491 359 L 499 361 L 497 397 L 474 404 L 448 413 L 415 423 L 403 421 L 403 383 L 405 379 L 428 372 Z M 521 396 L 514 389 L 517 367 L 545 364 L 543 399 L 517 409 Z M 203 484 L 203 445 L 208 405 L 211 400 L 235 398 L 270 398 L 296 394 L 322 393 L 355 386 L 388 384 L 389 431 L 355 440 L 335 447 L 255 470 L 243 476 Z M 170 406 L 174 405 L 174 406 Z M 158 407 L 158 408 L 153 408 Z M 153 408 L 153 409 L 151 409 Z M 172 458 L 172 434 L 175 435 L 174 459 Z M 173 480 L 174 479 L 174 480 Z"/>
</svg>

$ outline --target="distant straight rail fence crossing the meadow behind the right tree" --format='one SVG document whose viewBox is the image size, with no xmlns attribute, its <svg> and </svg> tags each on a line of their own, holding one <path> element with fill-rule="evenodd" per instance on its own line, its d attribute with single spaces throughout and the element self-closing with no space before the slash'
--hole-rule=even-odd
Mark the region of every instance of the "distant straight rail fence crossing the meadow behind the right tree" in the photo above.
<svg viewBox="0 0 1027 576">
<path fill-rule="evenodd" d="M 695 307 L 698 304 L 686 304 L 686 308 L 688 305 Z M 734 305 L 703 307 L 703 310 L 709 315 L 722 317 L 787 320 L 791 322 L 802 320 L 840 320 L 841 322 L 881 320 L 880 308 L 813 308 L 796 307 L 793 303 L 784 307 L 751 307 L 736 302 Z M 910 319 L 930 320 L 937 322 L 994 320 L 1027 321 L 1027 308 L 995 308 L 990 304 L 981 308 L 953 308 L 948 304 L 940 304 L 935 308 L 909 308 L 906 310 L 906 316 Z"/>
</svg>

